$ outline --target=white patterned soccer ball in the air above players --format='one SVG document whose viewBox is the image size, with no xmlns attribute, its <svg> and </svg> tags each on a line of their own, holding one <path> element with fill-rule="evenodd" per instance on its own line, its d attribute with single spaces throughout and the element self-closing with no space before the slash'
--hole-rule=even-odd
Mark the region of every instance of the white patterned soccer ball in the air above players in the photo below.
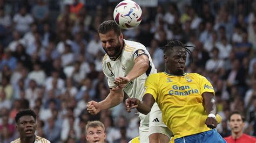
<svg viewBox="0 0 256 143">
<path fill-rule="evenodd" d="M 122 1 L 114 8 L 114 21 L 120 28 L 134 28 L 142 22 L 142 9 L 133 1 Z"/>
</svg>

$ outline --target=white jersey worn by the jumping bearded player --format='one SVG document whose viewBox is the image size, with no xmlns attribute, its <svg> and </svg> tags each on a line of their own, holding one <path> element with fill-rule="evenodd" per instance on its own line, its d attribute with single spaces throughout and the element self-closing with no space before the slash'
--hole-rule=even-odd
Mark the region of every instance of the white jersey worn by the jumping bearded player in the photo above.
<svg viewBox="0 0 256 143">
<path fill-rule="evenodd" d="M 153 65 L 151 56 L 149 52 L 147 52 L 146 47 L 139 42 L 124 40 L 122 54 L 120 54 L 116 60 L 111 60 L 109 56 L 105 54 L 102 66 L 110 88 L 117 87 L 117 85 L 114 84 L 114 78 L 119 76 L 125 77 L 133 68 L 134 60 L 142 54 L 149 57 L 149 68 L 144 74 L 130 81 L 126 84 L 126 87 L 124 87 L 124 92 L 129 97 L 135 97 L 140 100 L 142 99 L 146 78 L 150 74 L 157 73 L 157 70 Z"/>
</svg>

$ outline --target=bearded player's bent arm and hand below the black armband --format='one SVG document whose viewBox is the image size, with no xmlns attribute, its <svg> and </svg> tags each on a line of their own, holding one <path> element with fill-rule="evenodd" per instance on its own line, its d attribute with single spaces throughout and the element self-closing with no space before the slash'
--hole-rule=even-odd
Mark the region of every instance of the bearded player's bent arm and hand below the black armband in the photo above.
<svg viewBox="0 0 256 143">
<path fill-rule="evenodd" d="M 134 60 L 134 66 L 132 67 L 132 70 L 125 77 L 117 77 L 116 79 L 114 79 L 115 84 L 118 85 L 118 87 L 114 88 L 114 90 L 124 88 L 126 83 L 134 80 L 135 78 L 145 73 L 148 68 L 149 57 L 145 54 L 138 56 L 138 58 Z"/>
</svg>

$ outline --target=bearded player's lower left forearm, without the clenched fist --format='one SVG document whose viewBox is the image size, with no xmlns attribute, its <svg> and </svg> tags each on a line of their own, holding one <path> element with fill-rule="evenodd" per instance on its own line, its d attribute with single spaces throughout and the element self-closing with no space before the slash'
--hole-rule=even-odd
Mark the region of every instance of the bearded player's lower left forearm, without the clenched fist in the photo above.
<svg viewBox="0 0 256 143">
<path fill-rule="evenodd" d="M 122 103 L 123 99 L 124 96 L 122 95 L 113 95 L 110 93 L 103 101 L 99 102 L 100 110 L 113 108 L 114 106 Z"/>
</svg>

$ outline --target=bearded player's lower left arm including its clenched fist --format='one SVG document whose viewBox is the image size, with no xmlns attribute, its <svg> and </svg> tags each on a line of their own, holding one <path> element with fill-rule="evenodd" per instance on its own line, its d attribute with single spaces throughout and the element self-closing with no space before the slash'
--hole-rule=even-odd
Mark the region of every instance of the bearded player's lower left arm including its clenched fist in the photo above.
<svg viewBox="0 0 256 143">
<path fill-rule="evenodd" d="M 101 110 L 110 109 L 120 103 L 122 103 L 124 99 L 124 91 L 122 89 L 119 90 L 111 90 L 109 95 L 101 101 L 101 102 L 95 102 L 90 101 L 87 104 L 87 111 L 91 115 L 96 115 Z"/>
</svg>

